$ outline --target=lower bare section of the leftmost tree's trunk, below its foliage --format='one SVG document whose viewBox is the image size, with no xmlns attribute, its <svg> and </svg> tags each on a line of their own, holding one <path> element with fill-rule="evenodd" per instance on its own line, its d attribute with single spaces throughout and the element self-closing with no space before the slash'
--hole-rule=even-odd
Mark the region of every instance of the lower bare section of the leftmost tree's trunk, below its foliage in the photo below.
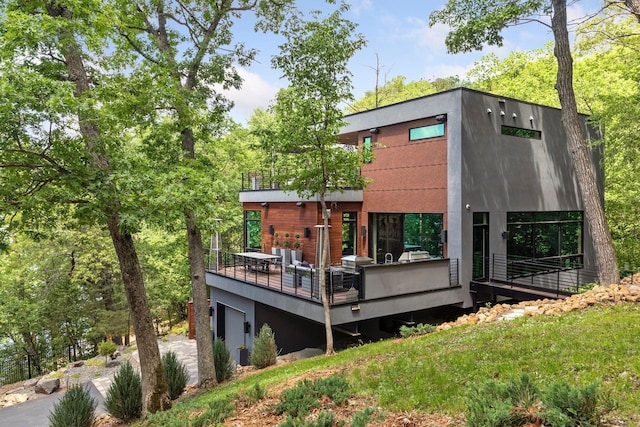
<svg viewBox="0 0 640 427">
<path fill-rule="evenodd" d="M 120 271 L 140 355 L 144 417 L 147 412 L 153 413 L 170 408 L 171 401 L 169 400 L 158 340 L 153 329 L 153 319 L 147 302 L 142 270 L 133 238 L 130 234 L 120 232 L 117 216 L 112 216 L 108 225 L 109 234 L 120 262 Z"/>
</svg>

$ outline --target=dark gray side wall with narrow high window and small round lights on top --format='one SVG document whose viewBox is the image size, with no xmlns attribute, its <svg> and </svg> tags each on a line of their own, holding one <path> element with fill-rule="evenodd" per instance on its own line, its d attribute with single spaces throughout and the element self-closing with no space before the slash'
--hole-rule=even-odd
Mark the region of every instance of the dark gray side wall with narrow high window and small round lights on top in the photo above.
<svg viewBox="0 0 640 427">
<path fill-rule="evenodd" d="M 504 102 L 500 102 L 504 100 Z M 488 112 L 491 110 L 491 113 Z M 506 254 L 506 214 L 514 211 L 584 210 L 561 111 L 475 91 L 462 92 L 460 212 L 465 244 L 462 282 L 471 279 L 473 212 L 489 212 L 490 253 Z M 505 114 L 501 115 L 501 111 Z M 513 117 L 515 114 L 516 117 Z M 583 126 L 585 133 L 592 130 Z M 505 136 L 501 125 L 542 131 L 542 139 Z M 601 152 L 593 153 L 601 194 Z M 466 206 L 469 205 L 469 209 Z M 454 209 L 454 207 L 450 207 Z M 450 232 L 451 233 L 451 232 Z M 593 245 L 584 232 L 585 262 L 593 263 Z M 450 254 L 450 256 L 452 256 Z"/>
</svg>

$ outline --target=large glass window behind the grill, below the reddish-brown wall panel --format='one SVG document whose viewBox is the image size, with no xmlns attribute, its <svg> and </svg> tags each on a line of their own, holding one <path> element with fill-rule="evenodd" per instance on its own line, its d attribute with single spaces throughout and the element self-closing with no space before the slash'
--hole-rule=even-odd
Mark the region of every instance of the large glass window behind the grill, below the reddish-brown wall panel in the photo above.
<svg viewBox="0 0 640 427">
<path fill-rule="evenodd" d="M 397 261 L 403 252 L 426 251 L 432 257 L 442 257 L 442 221 L 438 213 L 371 214 L 374 237 L 369 239 L 370 254 L 382 264 L 393 256 Z"/>
</svg>

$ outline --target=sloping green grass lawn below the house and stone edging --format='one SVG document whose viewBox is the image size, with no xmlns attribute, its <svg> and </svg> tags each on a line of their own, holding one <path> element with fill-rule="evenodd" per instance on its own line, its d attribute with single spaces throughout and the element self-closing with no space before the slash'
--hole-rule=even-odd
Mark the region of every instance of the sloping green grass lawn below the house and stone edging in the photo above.
<svg viewBox="0 0 640 427">
<path fill-rule="evenodd" d="M 640 425 L 640 305 L 456 327 L 271 367 L 185 399 L 150 416 L 144 425 L 187 425 L 193 413 L 206 410 L 214 399 L 235 397 L 256 383 L 267 391 L 279 390 L 291 378 L 325 369 L 348 380 L 354 399 L 384 411 L 454 416 L 464 413 L 465 394 L 472 386 L 489 379 L 527 373 L 542 386 L 597 381 L 615 404 L 608 417 Z"/>
</svg>

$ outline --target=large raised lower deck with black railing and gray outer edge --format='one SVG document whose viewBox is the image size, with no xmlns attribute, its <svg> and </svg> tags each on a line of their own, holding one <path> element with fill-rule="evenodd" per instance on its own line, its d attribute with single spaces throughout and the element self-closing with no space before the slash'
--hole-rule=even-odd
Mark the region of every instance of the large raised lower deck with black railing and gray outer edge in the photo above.
<svg viewBox="0 0 640 427">
<path fill-rule="evenodd" d="M 214 289 L 322 320 L 318 270 L 283 267 L 278 259 L 263 255 L 264 260 L 256 260 L 221 254 L 218 265 L 210 265 L 207 271 L 207 283 Z M 354 313 L 364 320 L 458 304 L 464 298 L 456 259 L 371 264 L 355 271 L 333 266 L 325 277 L 336 324 L 353 321 Z"/>
</svg>

